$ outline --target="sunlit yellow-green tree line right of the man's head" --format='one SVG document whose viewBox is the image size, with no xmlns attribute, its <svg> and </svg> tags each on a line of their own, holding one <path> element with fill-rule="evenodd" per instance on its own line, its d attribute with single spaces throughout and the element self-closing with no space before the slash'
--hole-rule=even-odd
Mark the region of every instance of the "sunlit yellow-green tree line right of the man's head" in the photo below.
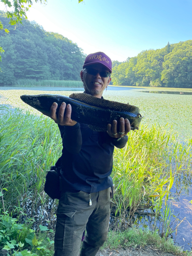
<svg viewBox="0 0 192 256">
<path fill-rule="evenodd" d="M 192 88 L 192 40 L 146 50 L 113 63 L 112 81 L 119 86 Z"/>
</svg>

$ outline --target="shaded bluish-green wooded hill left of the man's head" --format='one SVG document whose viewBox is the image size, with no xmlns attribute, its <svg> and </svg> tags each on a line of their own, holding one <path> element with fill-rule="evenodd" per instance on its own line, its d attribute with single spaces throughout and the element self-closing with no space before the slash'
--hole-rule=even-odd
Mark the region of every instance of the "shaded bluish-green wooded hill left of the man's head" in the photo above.
<svg viewBox="0 0 192 256">
<path fill-rule="evenodd" d="M 80 80 L 85 55 L 77 44 L 26 19 L 11 26 L 3 11 L 0 20 L 9 30 L 8 34 L 0 30 L 4 49 L 0 84 L 13 84 L 18 79 Z"/>
</svg>

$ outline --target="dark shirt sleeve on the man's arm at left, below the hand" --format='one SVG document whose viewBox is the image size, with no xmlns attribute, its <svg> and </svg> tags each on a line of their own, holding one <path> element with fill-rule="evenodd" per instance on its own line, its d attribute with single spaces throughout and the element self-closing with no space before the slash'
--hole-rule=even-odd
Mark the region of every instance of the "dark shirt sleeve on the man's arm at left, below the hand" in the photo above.
<svg viewBox="0 0 192 256">
<path fill-rule="evenodd" d="M 72 154 L 78 154 L 81 150 L 82 135 L 80 123 L 73 126 L 59 125 L 59 131 L 62 138 L 62 144 Z"/>
</svg>

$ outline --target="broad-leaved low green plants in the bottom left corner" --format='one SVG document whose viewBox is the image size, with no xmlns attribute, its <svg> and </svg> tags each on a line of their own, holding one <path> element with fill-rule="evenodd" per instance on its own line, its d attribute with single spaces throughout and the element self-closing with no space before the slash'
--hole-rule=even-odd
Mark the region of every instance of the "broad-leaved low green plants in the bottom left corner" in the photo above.
<svg viewBox="0 0 192 256">
<path fill-rule="evenodd" d="M 0 247 L 9 251 L 11 256 L 51 255 L 54 241 L 49 238 L 51 233 L 47 226 L 39 226 L 40 230 L 46 230 L 46 233 L 37 233 L 30 229 L 33 224 L 31 221 L 28 221 L 28 225 L 26 223 L 25 225 L 19 224 L 19 221 L 21 221 L 19 215 L 17 215 L 17 218 L 13 218 L 8 212 L 0 215 Z M 28 249 L 31 249 L 31 251 Z M 32 251 L 35 253 L 32 253 Z"/>
</svg>

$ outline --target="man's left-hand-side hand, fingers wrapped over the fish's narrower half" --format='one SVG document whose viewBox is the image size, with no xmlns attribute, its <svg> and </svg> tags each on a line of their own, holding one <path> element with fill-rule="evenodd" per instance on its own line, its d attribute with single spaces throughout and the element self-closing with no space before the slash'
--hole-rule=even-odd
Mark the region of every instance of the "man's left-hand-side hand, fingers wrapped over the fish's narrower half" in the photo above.
<svg viewBox="0 0 192 256">
<path fill-rule="evenodd" d="M 67 126 L 73 126 L 77 123 L 76 121 L 71 119 L 72 108 L 71 108 L 70 104 L 68 104 L 66 106 L 66 103 L 62 102 L 62 104 L 60 105 L 60 108 L 59 108 L 59 112 L 56 115 L 57 106 L 58 106 L 58 104 L 56 102 L 53 102 L 53 104 L 50 108 L 49 115 L 48 115 L 56 123 L 58 123 L 60 125 L 67 125 Z M 64 116 L 65 109 L 66 109 L 66 113 Z"/>
</svg>

